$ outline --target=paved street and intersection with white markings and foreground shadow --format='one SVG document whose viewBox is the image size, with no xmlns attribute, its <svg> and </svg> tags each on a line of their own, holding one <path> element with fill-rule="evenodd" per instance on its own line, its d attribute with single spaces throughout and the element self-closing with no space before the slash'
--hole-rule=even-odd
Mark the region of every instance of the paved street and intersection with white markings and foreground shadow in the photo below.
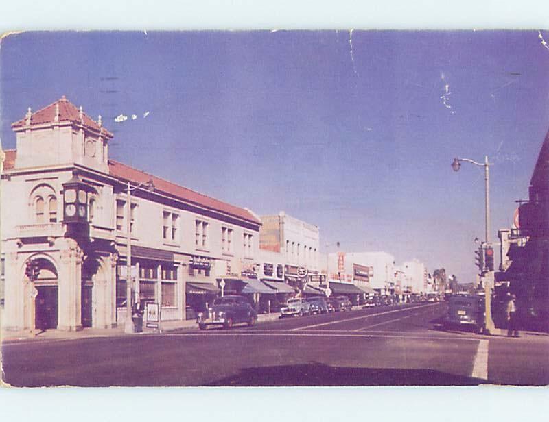
<svg viewBox="0 0 549 422">
<path fill-rule="evenodd" d="M 549 338 L 443 332 L 445 303 L 255 327 L 3 345 L 14 386 L 549 384 Z"/>
</svg>

